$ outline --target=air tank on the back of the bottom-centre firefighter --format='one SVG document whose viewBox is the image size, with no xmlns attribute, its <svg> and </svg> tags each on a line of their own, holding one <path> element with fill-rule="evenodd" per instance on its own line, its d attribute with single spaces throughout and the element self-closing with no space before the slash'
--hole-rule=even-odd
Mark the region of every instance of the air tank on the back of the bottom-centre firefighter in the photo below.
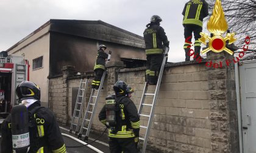
<svg viewBox="0 0 256 153">
<path fill-rule="evenodd" d="M 108 95 L 105 98 L 106 124 L 107 126 L 116 126 L 116 102 L 115 95 Z"/>
</svg>

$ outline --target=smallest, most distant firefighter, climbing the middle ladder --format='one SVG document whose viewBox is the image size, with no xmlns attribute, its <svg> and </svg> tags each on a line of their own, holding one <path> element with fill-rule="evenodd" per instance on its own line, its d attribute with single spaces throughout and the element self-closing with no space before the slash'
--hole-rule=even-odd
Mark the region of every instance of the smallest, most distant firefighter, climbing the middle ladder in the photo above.
<svg viewBox="0 0 256 153">
<path fill-rule="evenodd" d="M 107 61 L 108 57 L 107 53 L 104 52 L 106 49 L 107 47 L 104 44 L 98 47 L 98 55 L 94 66 L 95 78 L 91 83 L 91 88 L 93 89 L 99 89 L 101 84 L 101 78 L 105 70 L 105 61 Z"/>
</svg>

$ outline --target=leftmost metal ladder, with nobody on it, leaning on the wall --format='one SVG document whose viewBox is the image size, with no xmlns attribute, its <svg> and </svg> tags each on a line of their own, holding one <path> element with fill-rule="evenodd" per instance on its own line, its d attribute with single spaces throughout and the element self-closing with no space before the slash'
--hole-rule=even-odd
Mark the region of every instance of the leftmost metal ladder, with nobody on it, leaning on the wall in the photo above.
<svg viewBox="0 0 256 153">
<path fill-rule="evenodd" d="M 77 93 L 77 97 L 76 97 L 76 104 L 74 107 L 73 117 L 72 117 L 71 125 L 69 128 L 70 134 L 72 133 L 74 127 L 76 127 L 76 135 L 78 133 L 80 118 L 82 115 L 82 110 L 83 110 L 84 101 L 85 101 L 84 98 L 85 98 L 86 89 L 88 86 L 88 80 L 89 80 L 88 77 L 86 80 L 85 80 L 85 78 L 84 79 L 81 78 L 81 80 L 80 80 L 80 85 L 79 85 L 79 89 L 78 89 L 78 93 Z M 78 117 L 77 117 L 77 114 L 79 114 Z"/>
</svg>

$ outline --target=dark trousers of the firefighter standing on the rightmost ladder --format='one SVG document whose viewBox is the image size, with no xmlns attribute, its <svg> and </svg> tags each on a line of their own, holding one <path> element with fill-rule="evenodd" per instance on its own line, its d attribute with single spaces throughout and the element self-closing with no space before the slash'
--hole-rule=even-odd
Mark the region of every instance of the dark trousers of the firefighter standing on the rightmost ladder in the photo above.
<svg viewBox="0 0 256 153">
<path fill-rule="evenodd" d="M 162 61 L 163 54 L 147 55 L 146 81 L 148 83 L 157 84 L 158 74 L 160 72 Z"/>
</svg>

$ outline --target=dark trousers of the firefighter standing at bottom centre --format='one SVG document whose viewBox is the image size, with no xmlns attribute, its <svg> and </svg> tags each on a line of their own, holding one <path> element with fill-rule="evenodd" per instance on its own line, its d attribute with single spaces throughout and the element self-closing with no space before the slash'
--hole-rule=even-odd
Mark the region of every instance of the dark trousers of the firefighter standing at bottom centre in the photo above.
<svg viewBox="0 0 256 153">
<path fill-rule="evenodd" d="M 137 153 L 134 138 L 109 138 L 110 153 Z"/>
</svg>

